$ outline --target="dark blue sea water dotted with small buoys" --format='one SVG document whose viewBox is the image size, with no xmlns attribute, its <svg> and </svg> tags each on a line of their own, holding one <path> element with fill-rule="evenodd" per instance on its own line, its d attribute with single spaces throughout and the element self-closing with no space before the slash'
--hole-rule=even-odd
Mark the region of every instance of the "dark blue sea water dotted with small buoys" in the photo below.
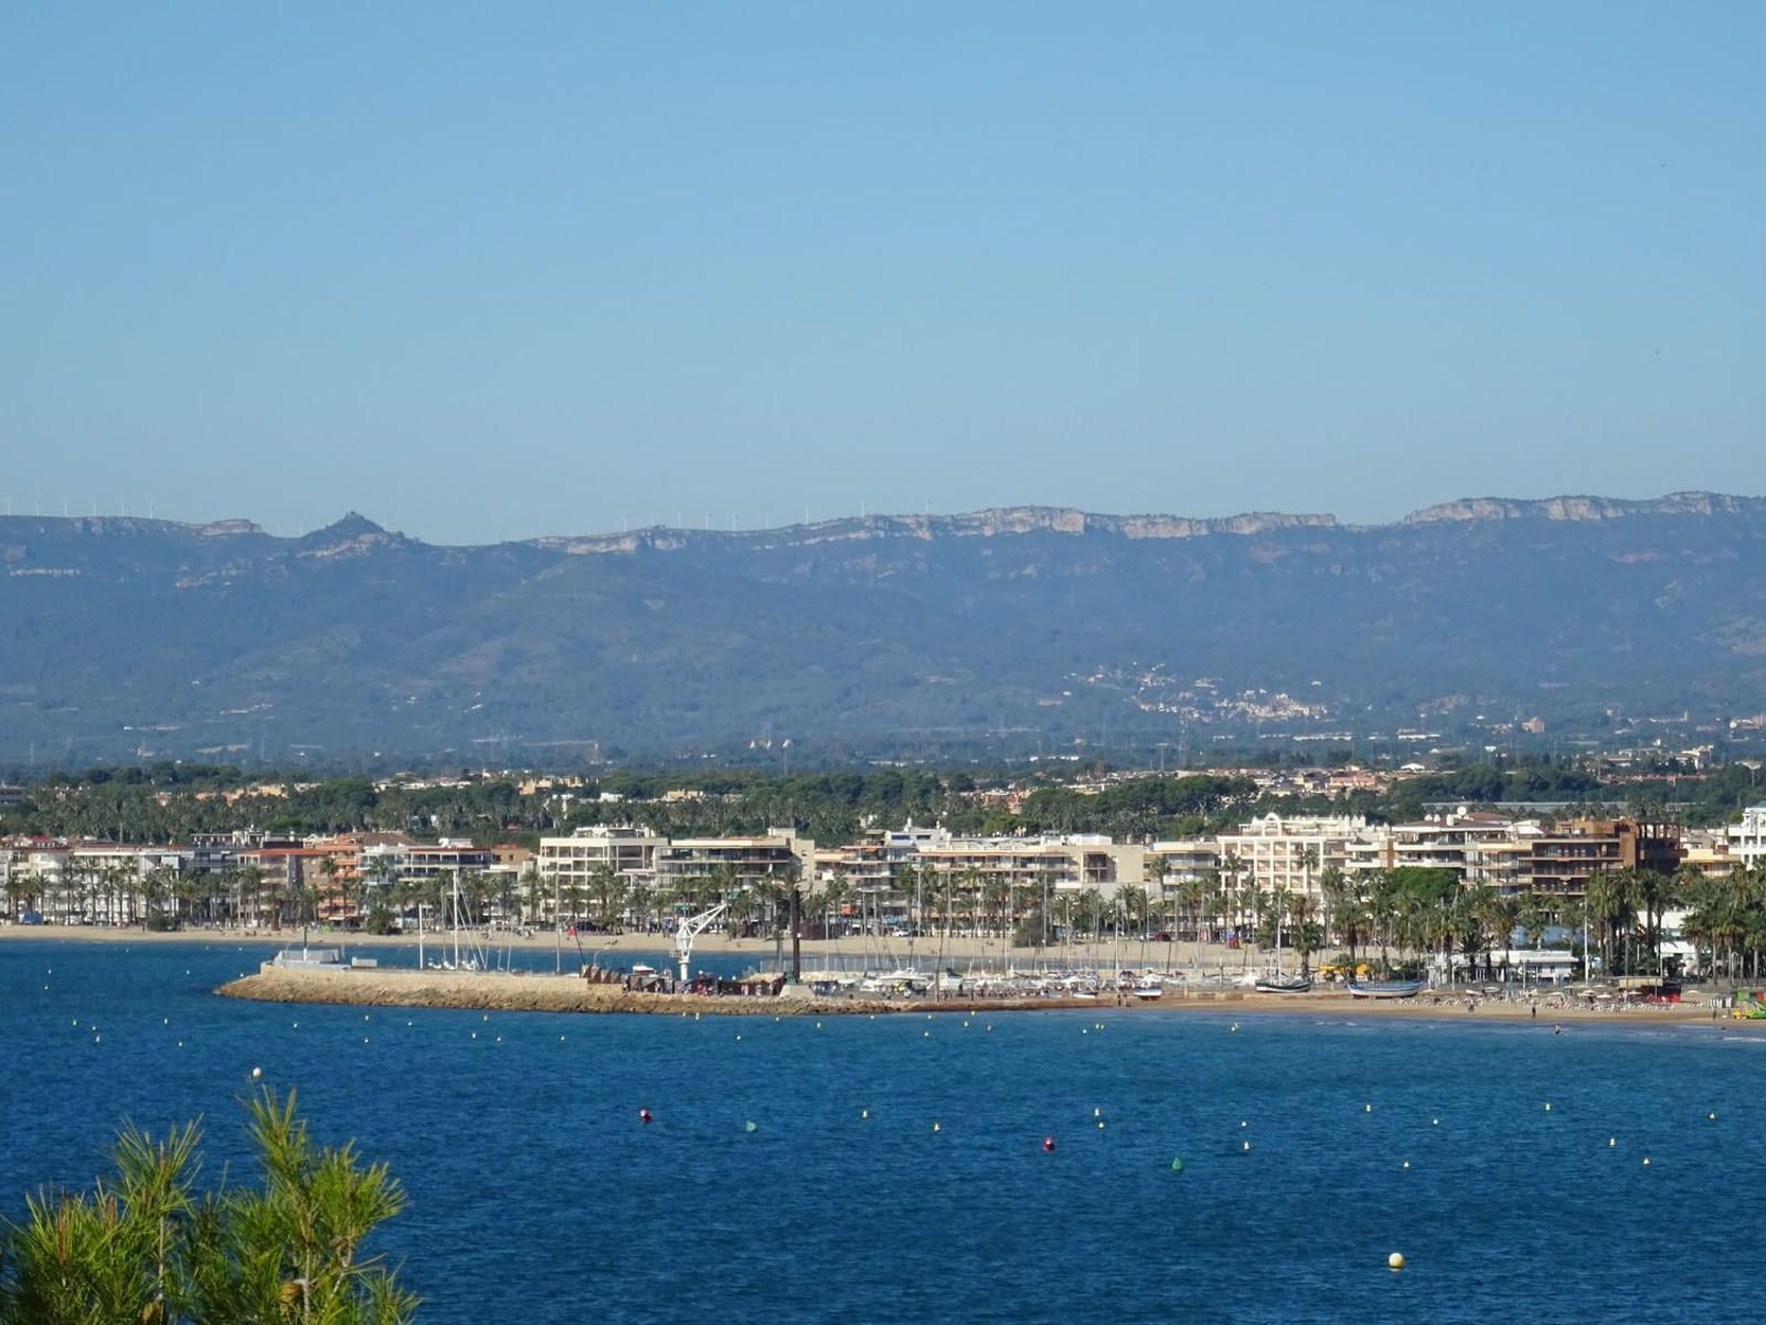
<svg viewBox="0 0 1766 1325">
<path fill-rule="evenodd" d="M 403 1178 L 383 1247 L 431 1321 L 1766 1316 L 1747 1032 L 210 996 L 260 952 L 0 943 L 4 1214 L 122 1117 L 203 1115 L 238 1173 L 261 1065 Z"/>
</svg>

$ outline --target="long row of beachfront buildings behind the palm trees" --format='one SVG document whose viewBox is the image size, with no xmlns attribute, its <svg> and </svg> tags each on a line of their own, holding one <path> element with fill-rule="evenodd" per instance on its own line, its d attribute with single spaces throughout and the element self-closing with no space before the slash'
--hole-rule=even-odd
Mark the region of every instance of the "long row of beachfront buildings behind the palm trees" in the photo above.
<svg viewBox="0 0 1766 1325">
<path fill-rule="evenodd" d="M 537 850 L 463 839 L 353 832 L 267 837 L 238 832 L 191 844 L 12 839 L 0 843 L 4 915 L 136 924 L 148 915 L 263 924 L 302 897 L 311 919 L 358 924 L 381 906 L 410 912 L 464 885 L 473 913 L 507 924 L 630 919 L 715 897 L 777 896 L 796 885 L 832 894 L 867 922 L 904 922 L 915 896 L 947 883 L 991 890 L 1026 912 L 1049 894 L 1123 890 L 1148 913 L 1171 913 L 1199 887 L 1323 899 L 1337 880 L 1399 867 L 1450 871 L 1466 887 L 1577 896 L 1598 873 L 1766 866 L 1766 806 L 1727 829 L 1637 820 L 1540 820 L 1453 811 L 1416 823 L 1356 816 L 1264 814 L 1210 837 L 1118 843 L 1091 834 L 959 836 L 904 825 L 821 846 L 789 829 L 740 837 L 664 837 L 599 825 L 542 837 Z M 609 915 L 609 908 L 618 917 Z"/>
</svg>

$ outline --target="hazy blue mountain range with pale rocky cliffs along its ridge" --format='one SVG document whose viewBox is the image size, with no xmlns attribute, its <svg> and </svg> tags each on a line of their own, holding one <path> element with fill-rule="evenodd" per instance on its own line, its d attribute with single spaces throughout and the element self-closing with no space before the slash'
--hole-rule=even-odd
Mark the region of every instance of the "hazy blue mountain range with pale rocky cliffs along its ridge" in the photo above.
<svg viewBox="0 0 1766 1325">
<path fill-rule="evenodd" d="M 0 763 L 1750 738 L 1766 498 L 434 546 L 0 518 Z M 789 742 L 789 744 L 788 744 Z"/>
</svg>

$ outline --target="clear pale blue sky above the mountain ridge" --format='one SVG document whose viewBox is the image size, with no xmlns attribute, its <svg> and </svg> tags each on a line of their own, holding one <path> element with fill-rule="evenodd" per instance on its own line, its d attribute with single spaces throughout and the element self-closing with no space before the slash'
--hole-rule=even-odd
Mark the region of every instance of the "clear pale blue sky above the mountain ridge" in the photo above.
<svg viewBox="0 0 1766 1325">
<path fill-rule="evenodd" d="M 0 16 L 0 500 L 1766 489 L 1766 5 Z"/>
</svg>

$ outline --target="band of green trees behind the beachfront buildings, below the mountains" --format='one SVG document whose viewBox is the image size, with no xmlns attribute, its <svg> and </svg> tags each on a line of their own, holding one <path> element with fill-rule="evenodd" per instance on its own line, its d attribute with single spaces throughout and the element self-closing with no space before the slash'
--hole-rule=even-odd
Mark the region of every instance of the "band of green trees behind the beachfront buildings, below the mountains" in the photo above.
<svg viewBox="0 0 1766 1325">
<path fill-rule="evenodd" d="M 609 772 L 523 795 L 512 777 L 376 786 L 367 777 L 297 781 L 164 763 L 55 774 L 32 784 L 23 806 L 0 809 L 0 834 L 189 843 L 196 834 L 235 829 L 288 836 L 371 830 L 470 837 L 486 846 L 630 822 L 676 837 L 793 827 L 819 843 L 842 843 L 867 829 L 913 820 L 959 834 L 1098 832 L 1141 839 L 1219 832 L 1270 811 L 1404 822 L 1422 818 L 1429 802 L 1618 804 L 1642 818 L 1711 825 L 1762 795 L 1757 774 L 1741 765 L 1604 783 L 1586 763 L 1570 760 L 1466 765 L 1402 779 L 1385 795 L 1356 791 L 1337 800 L 1259 791 L 1247 774 L 1144 776 L 1102 784 L 1091 777 L 1084 788 L 1061 781 L 1074 776 L 931 768 Z"/>
</svg>

